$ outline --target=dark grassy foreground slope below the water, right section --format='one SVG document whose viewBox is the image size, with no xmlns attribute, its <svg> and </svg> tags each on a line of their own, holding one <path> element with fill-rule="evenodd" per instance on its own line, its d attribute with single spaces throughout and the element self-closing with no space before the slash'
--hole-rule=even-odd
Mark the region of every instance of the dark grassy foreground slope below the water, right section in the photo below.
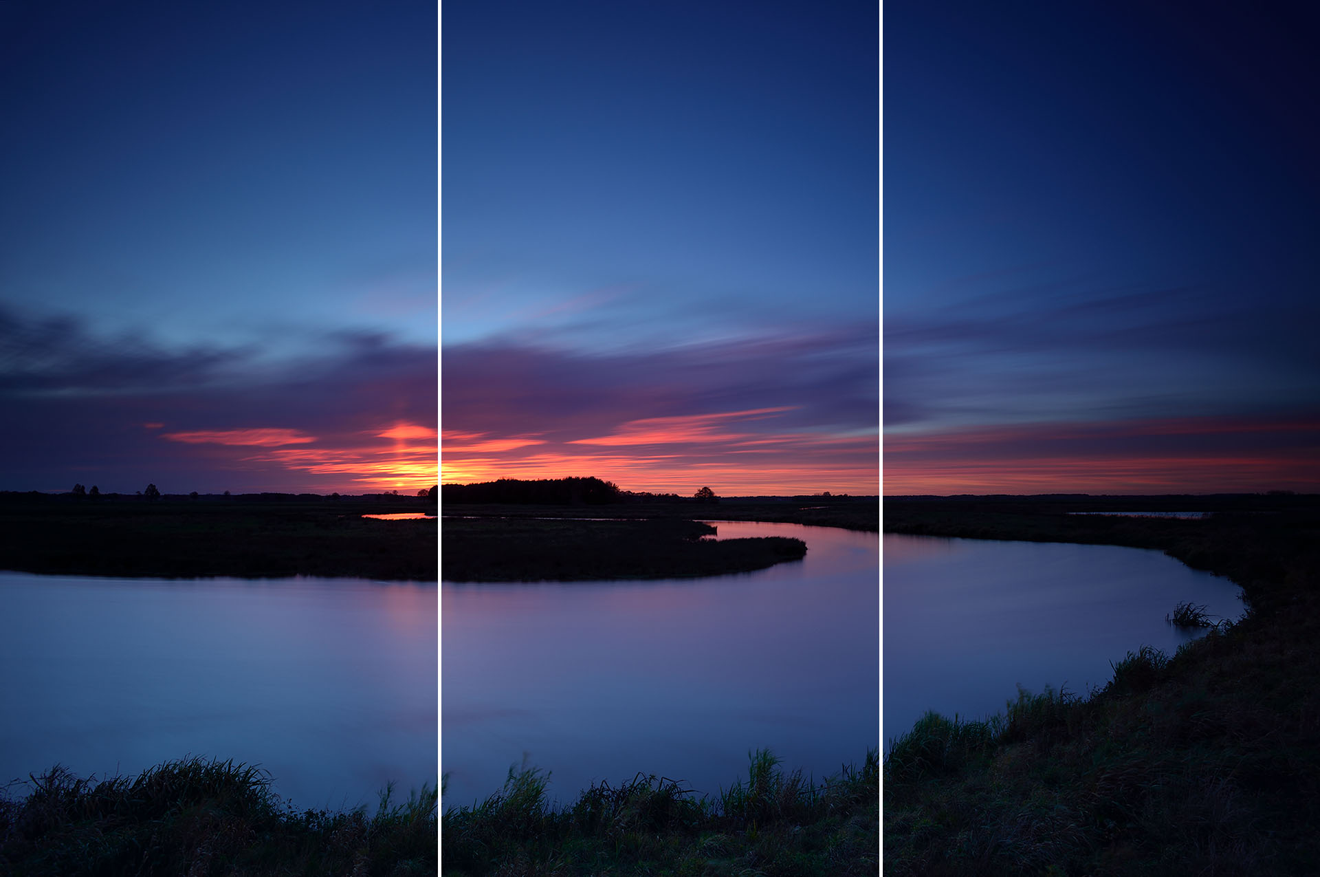
<svg viewBox="0 0 1320 877">
<path fill-rule="evenodd" d="M 1320 700 L 1288 684 L 1317 662 L 1239 627 L 1129 652 L 1088 699 L 927 713 L 884 757 L 886 873 L 1320 873 Z"/>
</svg>

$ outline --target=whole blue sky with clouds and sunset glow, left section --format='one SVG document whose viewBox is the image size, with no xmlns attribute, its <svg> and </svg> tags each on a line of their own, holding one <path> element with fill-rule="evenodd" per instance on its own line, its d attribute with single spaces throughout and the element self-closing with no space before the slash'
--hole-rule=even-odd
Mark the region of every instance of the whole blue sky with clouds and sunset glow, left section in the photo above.
<svg viewBox="0 0 1320 877">
<path fill-rule="evenodd" d="M 436 33 L 0 4 L 0 489 L 436 483 Z"/>
</svg>

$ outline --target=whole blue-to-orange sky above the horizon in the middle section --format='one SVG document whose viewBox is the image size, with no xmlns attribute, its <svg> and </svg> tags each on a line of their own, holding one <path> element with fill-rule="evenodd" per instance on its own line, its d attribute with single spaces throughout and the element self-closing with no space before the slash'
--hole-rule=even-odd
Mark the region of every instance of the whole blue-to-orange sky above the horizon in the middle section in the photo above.
<svg viewBox="0 0 1320 877">
<path fill-rule="evenodd" d="M 879 491 L 874 3 L 449 3 L 441 481 Z"/>
</svg>

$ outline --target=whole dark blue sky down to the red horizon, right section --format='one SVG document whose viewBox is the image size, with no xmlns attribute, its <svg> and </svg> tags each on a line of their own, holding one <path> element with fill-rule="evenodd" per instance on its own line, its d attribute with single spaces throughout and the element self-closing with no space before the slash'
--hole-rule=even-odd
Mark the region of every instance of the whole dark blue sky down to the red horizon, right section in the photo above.
<svg viewBox="0 0 1320 877">
<path fill-rule="evenodd" d="M 1317 37 L 884 4 L 886 494 L 1320 490 Z"/>
</svg>

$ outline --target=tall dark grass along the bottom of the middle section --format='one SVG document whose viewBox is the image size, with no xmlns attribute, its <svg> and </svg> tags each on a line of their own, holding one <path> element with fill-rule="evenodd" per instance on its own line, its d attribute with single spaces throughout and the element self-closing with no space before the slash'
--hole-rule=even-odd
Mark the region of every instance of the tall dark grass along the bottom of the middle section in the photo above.
<svg viewBox="0 0 1320 877">
<path fill-rule="evenodd" d="M 441 819 L 446 874 L 874 874 L 879 866 L 879 757 L 820 783 L 750 753 L 746 781 L 697 796 L 636 774 L 602 782 L 565 807 L 548 774 L 511 767 L 504 787 Z"/>
</svg>

